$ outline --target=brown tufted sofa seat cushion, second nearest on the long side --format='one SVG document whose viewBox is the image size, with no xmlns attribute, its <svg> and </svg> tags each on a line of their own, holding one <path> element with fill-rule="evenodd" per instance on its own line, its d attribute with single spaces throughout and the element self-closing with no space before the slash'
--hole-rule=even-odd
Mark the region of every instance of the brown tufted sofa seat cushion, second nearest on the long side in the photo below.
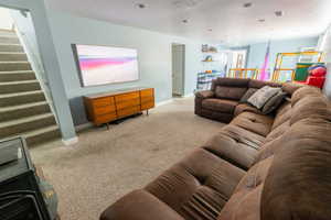
<svg viewBox="0 0 331 220">
<path fill-rule="evenodd" d="M 265 138 L 228 124 L 209 140 L 203 148 L 247 170 L 254 163 Z"/>
</svg>

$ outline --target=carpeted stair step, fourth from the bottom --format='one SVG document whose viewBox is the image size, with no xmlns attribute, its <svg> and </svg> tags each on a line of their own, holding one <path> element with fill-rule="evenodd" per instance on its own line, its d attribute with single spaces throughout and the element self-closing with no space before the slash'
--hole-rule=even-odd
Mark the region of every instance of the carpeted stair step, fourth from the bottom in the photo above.
<svg viewBox="0 0 331 220">
<path fill-rule="evenodd" d="M 39 101 L 45 101 L 42 90 L 0 95 L 0 107 L 12 107 Z"/>
</svg>

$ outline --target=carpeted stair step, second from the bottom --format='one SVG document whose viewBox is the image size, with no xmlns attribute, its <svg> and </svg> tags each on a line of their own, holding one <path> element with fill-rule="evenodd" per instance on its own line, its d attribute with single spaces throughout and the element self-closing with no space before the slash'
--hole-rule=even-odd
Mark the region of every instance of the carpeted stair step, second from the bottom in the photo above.
<svg viewBox="0 0 331 220">
<path fill-rule="evenodd" d="M 0 139 L 55 124 L 56 121 L 53 113 L 44 113 L 33 117 L 26 117 L 23 119 L 1 122 Z"/>
</svg>

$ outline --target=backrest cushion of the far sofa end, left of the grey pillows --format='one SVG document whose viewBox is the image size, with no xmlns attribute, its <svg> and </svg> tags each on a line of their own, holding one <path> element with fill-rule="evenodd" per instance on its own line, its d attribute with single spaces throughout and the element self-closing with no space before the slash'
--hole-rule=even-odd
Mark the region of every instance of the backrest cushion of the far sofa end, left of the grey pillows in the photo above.
<svg viewBox="0 0 331 220">
<path fill-rule="evenodd" d="M 246 87 L 216 86 L 215 96 L 218 99 L 241 100 L 241 98 L 245 95 L 246 91 Z"/>
</svg>

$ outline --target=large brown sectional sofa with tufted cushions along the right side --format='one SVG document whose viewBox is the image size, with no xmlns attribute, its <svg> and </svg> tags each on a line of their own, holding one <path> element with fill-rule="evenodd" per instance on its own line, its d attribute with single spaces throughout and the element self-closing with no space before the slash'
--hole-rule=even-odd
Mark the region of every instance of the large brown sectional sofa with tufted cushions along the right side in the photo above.
<svg viewBox="0 0 331 220">
<path fill-rule="evenodd" d="M 244 82 L 215 81 L 232 88 L 265 85 Z M 100 219 L 330 220 L 330 102 L 316 88 L 275 86 L 291 98 L 273 116 L 246 107 L 235 114 L 238 103 L 229 108 L 226 101 L 224 109 L 221 103 L 206 108 L 211 91 L 197 94 L 196 113 L 222 121 L 235 118 L 204 146 L 106 209 Z M 235 102 L 239 92 L 232 92 Z"/>
</svg>

